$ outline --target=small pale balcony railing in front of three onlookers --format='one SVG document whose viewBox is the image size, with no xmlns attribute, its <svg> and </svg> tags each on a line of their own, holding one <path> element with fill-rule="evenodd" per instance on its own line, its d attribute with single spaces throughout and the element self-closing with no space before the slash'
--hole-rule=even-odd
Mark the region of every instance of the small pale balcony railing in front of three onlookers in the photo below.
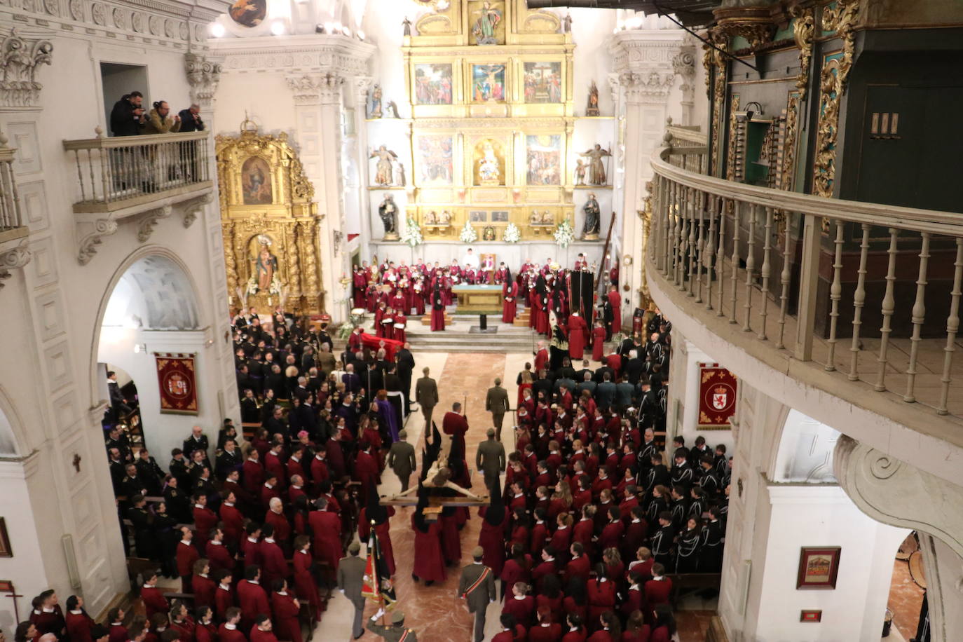
<svg viewBox="0 0 963 642">
<path fill-rule="evenodd" d="M 209 132 L 64 141 L 64 149 L 77 167 L 77 213 L 111 212 L 213 185 Z"/>
</svg>

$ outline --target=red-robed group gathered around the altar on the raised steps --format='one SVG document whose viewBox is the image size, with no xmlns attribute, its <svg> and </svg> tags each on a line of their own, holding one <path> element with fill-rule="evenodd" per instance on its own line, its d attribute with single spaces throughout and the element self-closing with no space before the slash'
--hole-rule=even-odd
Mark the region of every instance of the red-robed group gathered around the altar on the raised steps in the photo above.
<svg viewBox="0 0 963 642">
<path fill-rule="evenodd" d="M 422 259 L 410 266 L 404 261 L 396 265 L 388 259 L 371 266 L 365 261 L 353 268 L 353 305 L 375 315 L 377 336 L 404 341 L 404 327 L 410 314 L 422 316 L 426 310 L 437 312 L 439 314 L 432 314 L 431 329 L 445 329 L 444 311 L 455 302 L 455 286 L 500 285 L 504 299 L 502 321 L 505 323 L 515 320 L 521 304 L 530 311 L 529 326 L 538 334 L 553 336 L 558 332 L 567 337 L 570 330 L 579 332 L 584 335 L 581 341 L 585 346 L 601 344 L 596 341 L 599 335 L 588 331 L 593 329 L 589 327 L 592 324 L 590 317 L 597 317 L 594 327 L 601 328 L 602 341 L 611 340 L 621 328 L 617 264 L 606 274 L 608 292 L 598 302 L 590 304 L 597 308 L 591 310 L 582 302 L 571 300 L 573 274 L 591 270 L 584 254 L 579 254 L 572 270 L 561 268 L 551 258 L 542 265 L 526 259 L 514 272 L 504 262 L 496 268 L 490 259 L 486 258 L 486 261 L 487 264 L 481 264 L 471 247 L 460 264 L 455 259 L 446 266 L 438 261 L 425 263 Z M 573 316 L 583 321 L 588 318 L 587 324 L 573 323 Z M 558 331 L 554 329 L 556 327 Z"/>
</svg>

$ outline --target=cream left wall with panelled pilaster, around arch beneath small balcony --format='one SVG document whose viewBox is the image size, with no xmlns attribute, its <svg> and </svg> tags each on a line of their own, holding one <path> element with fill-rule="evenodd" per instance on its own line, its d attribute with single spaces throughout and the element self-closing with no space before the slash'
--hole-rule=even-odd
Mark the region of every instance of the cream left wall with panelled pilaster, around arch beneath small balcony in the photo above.
<svg viewBox="0 0 963 642">
<path fill-rule="evenodd" d="M 7 19 L 0 8 L 0 20 Z M 114 281 L 136 253 L 165 253 L 190 275 L 207 337 L 222 338 L 228 318 L 220 222 L 217 206 L 208 206 L 186 229 L 183 208 L 174 207 L 144 244 L 137 239 L 135 221 L 123 220 L 90 264 L 78 264 L 79 237 L 71 214 L 79 192 L 77 168 L 63 141 L 92 138 L 95 126 L 106 125 L 99 63 L 147 65 L 146 98 L 166 99 L 179 110 L 189 103 L 186 49 L 91 36 L 83 28 L 51 29 L 48 38 L 54 51 L 51 66 L 39 71 L 43 85 L 39 108 L 0 109 L 0 130 L 18 148 L 14 173 L 32 252 L 31 262 L 24 270 L 14 270 L 0 291 L 0 306 L 8 311 L 0 352 L 5 363 L 15 364 L 0 369 L 0 399 L 6 399 L 4 413 L 18 452 L 36 452 L 25 482 L 29 506 L 20 513 L 0 507 L 0 514 L 25 519 L 28 514 L 22 511 L 30 508 L 36 532 L 20 527 L 12 532 L 15 567 L 7 573 L 7 560 L 0 560 L 0 577 L 13 579 L 18 588 L 50 586 L 61 596 L 82 592 L 91 614 L 98 615 L 128 588 L 99 424 L 103 390 L 101 376 L 94 372 L 99 314 Z M 230 348 L 216 341 L 211 354 L 208 366 L 214 372 L 209 378 L 205 374 L 204 385 L 224 390 L 225 412 L 238 419 Z M 72 465 L 75 455 L 80 458 L 79 472 Z M 24 501 L 21 493 L 5 495 Z M 67 580 L 61 545 L 66 533 L 73 537 L 78 588 Z M 9 605 L 8 600 L 0 603 L 0 621 Z"/>
</svg>

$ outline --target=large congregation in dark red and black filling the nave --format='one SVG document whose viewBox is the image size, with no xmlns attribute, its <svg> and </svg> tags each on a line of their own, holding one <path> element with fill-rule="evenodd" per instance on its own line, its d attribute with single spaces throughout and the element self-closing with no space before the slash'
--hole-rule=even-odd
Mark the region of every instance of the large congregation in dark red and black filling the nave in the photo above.
<svg viewBox="0 0 963 642">
<path fill-rule="evenodd" d="M 677 437 L 668 455 L 657 442 L 671 324 L 655 314 L 646 330 L 644 344 L 626 338 L 595 370 L 584 359 L 577 372 L 573 353 L 540 346 L 534 367 L 518 375 L 507 457 L 508 395 L 500 382 L 489 390 L 493 427 L 475 465 L 491 500 L 478 511 L 479 547 L 458 591 L 475 614 L 476 640 L 484 629 L 481 588 L 486 601 L 503 603 L 497 642 L 668 640 L 669 576 L 719 572 L 730 461 L 724 446 L 711 450 L 701 437 L 691 449 Z M 145 614 L 131 619 L 114 609 L 99 626 L 79 597 L 68 599 L 64 615 L 48 591 L 16 642 L 44 634 L 70 642 L 105 635 L 107 642 L 300 642 L 299 616 L 320 618 L 325 590 L 335 585 L 354 604 L 353 634 L 363 632 L 364 564 L 355 539 L 366 542 L 374 529 L 395 573 L 394 509 L 378 504 L 377 484 L 390 469 L 407 488 L 417 469 L 402 427 L 414 359 L 406 345 L 390 360 L 365 347 L 336 357 L 324 329 L 309 331 L 280 309 L 238 312 L 233 331 L 248 439 L 230 420 L 213 444 L 195 426 L 165 471 L 108 426 L 125 546 L 155 562 L 142 574 Z M 438 395 L 428 369 L 415 392 L 438 457 L 431 421 Z M 426 584 L 443 580 L 462 556 L 469 509 L 444 508 L 437 519 L 422 509 L 442 486 L 472 487 L 467 429 L 455 404 L 441 422 L 450 448 L 440 464 L 422 462 L 411 527 L 413 575 Z M 157 587 L 164 576 L 180 578 L 187 595 L 169 600 Z M 392 627 L 368 624 L 380 634 L 409 630 L 398 613 Z"/>
</svg>

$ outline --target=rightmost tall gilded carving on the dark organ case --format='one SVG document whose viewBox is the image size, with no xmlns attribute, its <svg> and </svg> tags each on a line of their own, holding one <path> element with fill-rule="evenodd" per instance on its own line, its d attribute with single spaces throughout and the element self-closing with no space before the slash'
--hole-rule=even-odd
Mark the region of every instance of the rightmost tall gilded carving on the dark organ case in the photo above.
<svg viewBox="0 0 963 642">
<path fill-rule="evenodd" d="M 833 26 L 843 39 L 843 53 L 826 61 L 820 73 L 820 121 L 816 132 L 816 154 L 813 167 L 813 193 L 831 197 L 836 179 L 836 142 L 839 134 L 840 101 L 846 93 L 846 81 L 852 68 L 855 48 L 858 0 L 837 0 L 835 6 L 824 8 L 822 26 Z M 827 14 L 828 13 L 828 14 Z"/>
</svg>

